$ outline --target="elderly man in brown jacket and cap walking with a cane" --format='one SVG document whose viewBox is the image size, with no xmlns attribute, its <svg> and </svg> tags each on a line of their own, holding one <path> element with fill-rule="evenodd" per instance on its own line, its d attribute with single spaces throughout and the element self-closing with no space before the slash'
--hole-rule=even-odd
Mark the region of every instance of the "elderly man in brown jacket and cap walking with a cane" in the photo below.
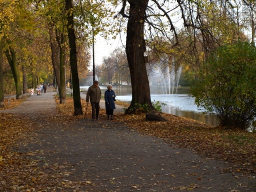
<svg viewBox="0 0 256 192">
<path fill-rule="evenodd" d="M 86 102 L 88 103 L 90 99 L 92 105 L 92 119 L 99 119 L 100 113 L 100 99 L 101 99 L 101 90 L 99 87 L 98 81 L 93 81 L 86 94 Z"/>
</svg>

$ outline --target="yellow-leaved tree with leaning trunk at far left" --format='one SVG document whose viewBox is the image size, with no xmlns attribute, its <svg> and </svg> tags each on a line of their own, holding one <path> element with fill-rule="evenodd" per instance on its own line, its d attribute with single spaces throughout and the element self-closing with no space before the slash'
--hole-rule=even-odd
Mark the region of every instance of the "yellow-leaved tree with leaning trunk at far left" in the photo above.
<svg viewBox="0 0 256 192">
<path fill-rule="evenodd" d="M 44 61 L 44 53 L 45 50 L 41 46 L 39 51 L 36 52 L 36 44 L 35 42 L 36 31 L 35 29 L 35 15 L 33 15 L 33 10 L 29 9 L 30 4 L 26 1 L 22 2 L 13 2 L 13 13 L 15 17 L 10 24 L 11 33 L 4 36 L 5 41 L 5 55 L 10 64 L 12 74 L 15 81 L 15 87 L 17 92 L 17 99 L 21 97 L 21 82 L 20 82 L 20 71 L 23 71 L 22 74 L 22 83 L 23 83 L 23 93 L 27 92 L 27 73 L 35 73 L 35 76 L 38 78 L 38 82 L 40 83 L 41 78 L 38 73 L 41 73 L 41 76 L 45 79 L 47 76 L 47 72 L 45 72 L 44 66 L 46 66 L 46 62 Z M 30 7 L 31 8 L 31 7 Z M 38 36 L 37 36 L 38 37 Z M 36 39 L 37 47 L 39 47 L 39 38 Z M 33 46 L 34 45 L 34 46 Z M 42 44 L 41 44 L 42 45 Z M 33 49 L 29 49 L 33 47 Z M 38 54 L 38 55 L 36 55 Z M 31 65 L 35 65 L 31 58 L 39 58 L 37 60 L 38 65 L 31 68 Z M 22 70 L 23 69 L 23 70 Z M 28 71 L 26 69 L 31 69 Z M 37 69 L 33 71 L 33 69 Z M 47 71 L 47 70 L 46 70 Z"/>
</svg>

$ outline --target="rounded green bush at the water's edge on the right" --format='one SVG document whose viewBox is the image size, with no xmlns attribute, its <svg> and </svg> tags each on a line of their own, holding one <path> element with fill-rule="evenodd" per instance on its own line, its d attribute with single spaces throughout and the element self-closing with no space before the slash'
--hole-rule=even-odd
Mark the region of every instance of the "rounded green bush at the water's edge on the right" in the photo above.
<svg viewBox="0 0 256 192">
<path fill-rule="evenodd" d="M 220 126 L 247 129 L 256 116 L 256 49 L 247 42 L 219 47 L 191 87 L 197 106 Z"/>
</svg>

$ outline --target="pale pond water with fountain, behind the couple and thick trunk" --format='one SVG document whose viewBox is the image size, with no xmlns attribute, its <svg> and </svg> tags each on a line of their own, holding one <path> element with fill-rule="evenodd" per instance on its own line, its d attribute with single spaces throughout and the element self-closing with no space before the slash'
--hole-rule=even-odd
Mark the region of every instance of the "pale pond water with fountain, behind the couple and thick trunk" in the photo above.
<svg viewBox="0 0 256 192">
<path fill-rule="evenodd" d="M 87 91 L 88 87 L 89 86 L 81 86 L 81 90 Z M 104 93 L 107 87 L 100 86 L 100 89 L 102 93 Z M 131 86 L 113 86 L 112 89 L 115 91 L 117 100 L 127 103 L 131 102 Z M 166 89 L 166 87 L 164 89 L 161 86 L 150 87 L 151 101 L 165 103 L 165 105 L 161 107 L 164 113 L 188 117 L 214 126 L 218 125 L 214 116 L 202 114 L 203 110 L 195 105 L 195 98 L 191 97 L 188 91 L 178 89 L 174 91 L 175 93 L 177 91 L 177 94 L 163 94 L 169 91 L 170 89 Z"/>
</svg>

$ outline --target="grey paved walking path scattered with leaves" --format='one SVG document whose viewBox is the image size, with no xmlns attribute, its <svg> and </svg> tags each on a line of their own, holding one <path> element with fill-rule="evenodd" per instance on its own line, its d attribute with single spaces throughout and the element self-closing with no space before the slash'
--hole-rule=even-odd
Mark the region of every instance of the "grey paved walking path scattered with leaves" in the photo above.
<svg viewBox="0 0 256 192">
<path fill-rule="evenodd" d="M 0 113 L 43 121 L 46 114 L 55 114 L 54 94 L 53 89 L 47 89 L 46 94 L 31 95 L 19 107 Z M 63 182 L 87 183 L 56 191 L 256 191 L 255 178 L 222 172 L 225 162 L 107 119 L 72 123 L 46 120 L 43 129 L 33 134 L 34 140 L 17 149 L 20 153 L 37 153 L 29 158 L 41 162 L 38 166 L 45 172 L 63 173 Z"/>
</svg>

